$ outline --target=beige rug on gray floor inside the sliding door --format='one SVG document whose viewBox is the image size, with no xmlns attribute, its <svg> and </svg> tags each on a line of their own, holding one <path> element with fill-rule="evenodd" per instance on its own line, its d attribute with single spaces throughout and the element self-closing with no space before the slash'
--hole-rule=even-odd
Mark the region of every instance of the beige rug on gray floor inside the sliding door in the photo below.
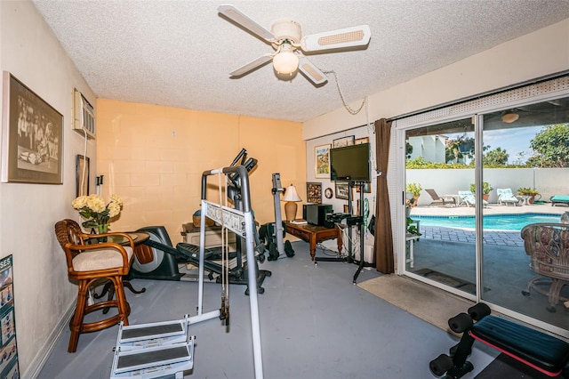
<svg viewBox="0 0 569 379">
<path fill-rule="evenodd" d="M 437 287 L 394 274 L 366 280 L 357 286 L 452 334 L 448 319 L 474 305 Z"/>
</svg>

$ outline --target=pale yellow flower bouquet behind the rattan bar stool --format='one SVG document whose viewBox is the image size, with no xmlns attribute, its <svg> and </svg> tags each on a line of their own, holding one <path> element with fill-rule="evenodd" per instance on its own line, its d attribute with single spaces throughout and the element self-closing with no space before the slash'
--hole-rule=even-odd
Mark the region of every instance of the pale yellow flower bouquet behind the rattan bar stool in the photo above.
<svg viewBox="0 0 569 379">
<path fill-rule="evenodd" d="M 123 200 L 118 195 L 111 195 L 110 201 L 105 204 L 100 195 L 93 194 L 76 198 L 71 206 L 84 218 L 82 225 L 85 229 L 96 228 L 99 233 L 106 233 L 109 220 L 121 213 Z"/>
</svg>

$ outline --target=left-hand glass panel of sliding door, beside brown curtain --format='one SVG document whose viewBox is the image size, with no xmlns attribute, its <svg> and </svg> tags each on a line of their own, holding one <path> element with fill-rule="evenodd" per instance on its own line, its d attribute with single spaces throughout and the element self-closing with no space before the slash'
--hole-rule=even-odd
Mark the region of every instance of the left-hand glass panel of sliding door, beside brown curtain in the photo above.
<svg viewBox="0 0 569 379">
<path fill-rule="evenodd" d="M 461 118 L 405 132 L 405 270 L 476 295 L 474 125 Z"/>
</svg>

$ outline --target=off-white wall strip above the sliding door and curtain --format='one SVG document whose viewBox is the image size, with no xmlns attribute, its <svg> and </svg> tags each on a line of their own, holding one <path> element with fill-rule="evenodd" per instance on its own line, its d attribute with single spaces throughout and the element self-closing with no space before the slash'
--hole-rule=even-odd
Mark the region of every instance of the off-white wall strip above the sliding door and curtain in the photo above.
<svg viewBox="0 0 569 379">
<path fill-rule="evenodd" d="M 500 44 L 381 93 L 370 93 L 367 112 L 336 109 L 303 124 L 310 140 L 380 118 L 485 93 L 569 69 L 569 19 Z M 330 84 L 328 84 L 330 85 Z M 350 105 L 357 107 L 361 100 Z M 367 116 L 366 116 L 367 115 Z"/>
</svg>

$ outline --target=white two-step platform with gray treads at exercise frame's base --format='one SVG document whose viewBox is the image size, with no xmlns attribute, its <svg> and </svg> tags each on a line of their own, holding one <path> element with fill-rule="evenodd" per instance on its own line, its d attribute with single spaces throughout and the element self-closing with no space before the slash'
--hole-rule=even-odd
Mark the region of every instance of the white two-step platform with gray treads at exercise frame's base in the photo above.
<svg viewBox="0 0 569 379">
<path fill-rule="evenodd" d="M 195 338 L 188 335 L 188 316 L 132 326 L 121 323 L 110 379 L 181 379 L 194 367 Z"/>
</svg>

